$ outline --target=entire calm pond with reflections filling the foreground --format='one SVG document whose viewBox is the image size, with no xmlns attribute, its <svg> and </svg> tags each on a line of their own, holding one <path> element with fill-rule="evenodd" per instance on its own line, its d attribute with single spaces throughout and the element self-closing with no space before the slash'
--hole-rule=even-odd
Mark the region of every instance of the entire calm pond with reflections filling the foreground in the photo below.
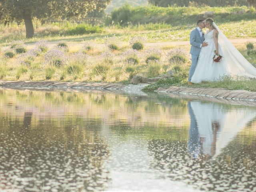
<svg viewBox="0 0 256 192">
<path fill-rule="evenodd" d="M 0 191 L 256 191 L 255 138 L 253 106 L 0 90 Z"/>
</svg>

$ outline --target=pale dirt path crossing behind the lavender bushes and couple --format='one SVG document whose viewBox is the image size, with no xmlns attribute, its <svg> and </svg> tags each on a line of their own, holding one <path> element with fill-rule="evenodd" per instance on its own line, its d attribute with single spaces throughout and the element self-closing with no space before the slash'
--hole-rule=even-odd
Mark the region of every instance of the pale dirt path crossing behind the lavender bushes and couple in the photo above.
<svg viewBox="0 0 256 192">
<path fill-rule="evenodd" d="M 82 40 L 82 39 L 81 39 Z M 52 41 L 48 43 L 48 46 L 50 48 L 56 46 L 60 42 L 65 41 Z M 76 48 L 82 48 L 84 45 L 83 42 L 77 42 L 77 41 L 66 41 L 69 46 L 76 47 Z M 239 38 L 239 39 L 230 39 L 230 42 L 233 44 L 244 44 L 246 42 L 256 42 L 256 38 Z M 35 43 L 26 44 L 28 48 L 32 48 Z M 189 45 L 189 41 L 171 41 L 171 42 L 148 42 L 145 43 L 145 46 L 149 47 L 164 47 L 164 46 L 184 46 Z M 105 46 L 105 44 L 95 44 L 97 47 L 102 48 L 102 46 Z M 124 43 L 125 45 L 125 43 Z"/>
</svg>

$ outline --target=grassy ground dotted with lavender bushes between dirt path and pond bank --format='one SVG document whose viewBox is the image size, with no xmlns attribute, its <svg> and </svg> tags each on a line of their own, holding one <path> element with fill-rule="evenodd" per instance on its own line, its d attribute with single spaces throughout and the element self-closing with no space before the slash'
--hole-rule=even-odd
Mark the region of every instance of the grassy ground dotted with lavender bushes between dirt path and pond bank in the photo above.
<svg viewBox="0 0 256 192">
<path fill-rule="evenodd" d="M 61 42 L 49 48 L 50 44 L 41 40 L 28 48 L 23 42 L 14 41 L 1 50 L 0 79 L 125 83 L 134 75 L 156 77 L 172 70 L 174 78 L 161 80 L 145 90 L 186 86 L 191 65 L 190 46 L 152 48 L 145 47 L 144 42 L 146 39 L 142 37 L 132 38 L 129 42 L 112 37 L 106 40 L 105 46 L 85 41 L 80 46 Z M 236 46 L 256 66 L 256 52 L 248 53 L 246 45 Z M 255 83 L 256 80 L 226 78 L 195 86 L 256 91 Z"/>
</svg>

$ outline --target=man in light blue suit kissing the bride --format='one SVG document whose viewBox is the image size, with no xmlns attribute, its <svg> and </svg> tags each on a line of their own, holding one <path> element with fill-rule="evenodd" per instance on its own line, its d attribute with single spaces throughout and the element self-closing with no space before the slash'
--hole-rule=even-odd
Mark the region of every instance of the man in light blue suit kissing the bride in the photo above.
<svg viewBox="0 0 256 192">
<path fill-rule="evenodd" d="M 204 33 L 202 29 L 205 28 L 204 20 L 197 21 L 197 28 L 190 33 L 190 54 L 192 57 L 192 64 L 188 74 L 188 85 L 192 85 L 191 78 L 194 74 L 196 63 L 202 47 L 208 46 L 208 43 L 204 42 Z"/>
</svg>

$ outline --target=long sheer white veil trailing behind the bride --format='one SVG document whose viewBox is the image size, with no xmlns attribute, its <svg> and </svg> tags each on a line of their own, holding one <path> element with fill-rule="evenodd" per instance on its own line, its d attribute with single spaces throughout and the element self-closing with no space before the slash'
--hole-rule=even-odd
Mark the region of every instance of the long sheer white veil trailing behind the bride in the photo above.
<svg viewBox="0 0 256 192">
<path fill-rule="evenodd" d="M 231 76 L 245 76 L 256 78 L 256 68 L 250 64 L 244 56 L 234 47 L 220 28 L 213 22 L 213 26 L 219 33 L 219 44 L 222 48 L 223 57 L 228 66 Z"/>
</svg>

